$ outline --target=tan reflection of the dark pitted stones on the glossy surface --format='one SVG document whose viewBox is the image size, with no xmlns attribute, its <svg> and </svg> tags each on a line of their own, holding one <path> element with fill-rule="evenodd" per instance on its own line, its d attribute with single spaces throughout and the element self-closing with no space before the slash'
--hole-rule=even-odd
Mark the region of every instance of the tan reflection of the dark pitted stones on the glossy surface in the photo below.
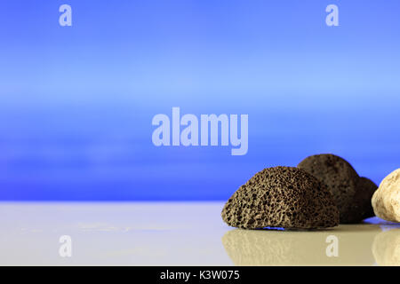
<svg viewBox="0 0 400 284">
<path fill-rule="evenodd" d="M 380 232 L 379 225 L 366 224 L 313 232 L 234 229 L 222 243 L 236 265 L 373 265 L 372 243 Z M 330 235 L 339 240 L 339 256 L 326 254 Z"/>
</svg>

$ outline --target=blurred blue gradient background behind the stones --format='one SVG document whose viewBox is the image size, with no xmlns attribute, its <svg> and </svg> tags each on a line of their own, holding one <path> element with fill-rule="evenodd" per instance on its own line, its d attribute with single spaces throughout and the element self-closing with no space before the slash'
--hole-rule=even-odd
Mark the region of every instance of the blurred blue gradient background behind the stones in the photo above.
<svg viewBox="0 0 400 284">
<path fill-rule="evenodd" d="M 60 27 L 60 4 L 73 26 Z M 340 27 L 325 25 L 338 4 Z M 0 3 L 0 200 L 223 200 L 265 167 L 400 167 L 400 2 Z M 249 152 L 156 147 L 155 114 L 249 114 Z"/>
</svg>

